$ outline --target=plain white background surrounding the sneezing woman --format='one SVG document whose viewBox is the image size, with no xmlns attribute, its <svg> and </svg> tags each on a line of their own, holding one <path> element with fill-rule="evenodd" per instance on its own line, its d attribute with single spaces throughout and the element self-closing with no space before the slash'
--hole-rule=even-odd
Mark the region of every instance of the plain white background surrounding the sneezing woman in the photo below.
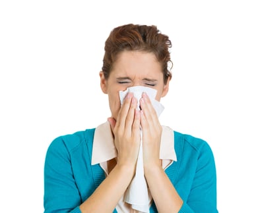
<svg viewBox="0 0 256 213">
<path fill-rule="evenodd" d="M 104 42 L 121 24 L 154 24 L 173 43 L 160 120 L 208 141 L 219 212 L 255 210 L 253 1 L 1 1 L 0 212 L 43 212 L 51 141 L 110 116 Z"/>
</svg>

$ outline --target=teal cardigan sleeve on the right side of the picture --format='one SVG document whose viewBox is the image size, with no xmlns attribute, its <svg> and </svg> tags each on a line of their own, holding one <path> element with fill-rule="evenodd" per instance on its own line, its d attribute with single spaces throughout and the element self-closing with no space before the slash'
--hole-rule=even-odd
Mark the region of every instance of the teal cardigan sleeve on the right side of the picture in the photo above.
<svg viewBox="0 0 256 213">
<path fill-rule="evenodd" d="M 214 156 L 208 143 L 198 151 L 195 176 L 187 202 L 183 203 L 179 213 L 216 213 L 216 168 Z"/>
</svg>

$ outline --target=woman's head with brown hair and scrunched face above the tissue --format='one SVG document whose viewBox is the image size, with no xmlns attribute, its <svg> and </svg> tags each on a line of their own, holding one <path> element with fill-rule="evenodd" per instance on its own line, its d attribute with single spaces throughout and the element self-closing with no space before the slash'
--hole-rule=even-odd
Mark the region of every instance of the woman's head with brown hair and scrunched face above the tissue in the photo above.
<svg viewBox="0 0 256 213">
<path fill-rule="evenodd" d="M 121 107 L 119 91 L 127 87 L 152 87 L 157 91 L 157 101 L 168 93 L 171 46 L 168 36 L 156 26 L 127 24 L 112 30 L 105 44 L 100 85 L 108 94 L 113 118 Z"/>
</svg>

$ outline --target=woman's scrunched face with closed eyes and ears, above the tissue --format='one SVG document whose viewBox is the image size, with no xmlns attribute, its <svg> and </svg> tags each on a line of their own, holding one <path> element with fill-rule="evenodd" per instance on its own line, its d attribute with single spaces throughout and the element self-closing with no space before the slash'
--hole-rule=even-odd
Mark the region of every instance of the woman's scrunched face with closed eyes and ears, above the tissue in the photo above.
<svg viewBox="0 0 256 213">
<path fill-rule="evenodd" d="M 157 90 L 156 100 L 160 101 L 168 93 L 169 80 L 164 85 L 160 63 L 153 53 L 123 51 L 113 64 L 108 80 L 100 72 L 100 85 L 102 91 L 108 94 L 112 117 L 116 119 L 121 107 L 119 91 L 137 85 L 151 87 Z"/>
</svg>

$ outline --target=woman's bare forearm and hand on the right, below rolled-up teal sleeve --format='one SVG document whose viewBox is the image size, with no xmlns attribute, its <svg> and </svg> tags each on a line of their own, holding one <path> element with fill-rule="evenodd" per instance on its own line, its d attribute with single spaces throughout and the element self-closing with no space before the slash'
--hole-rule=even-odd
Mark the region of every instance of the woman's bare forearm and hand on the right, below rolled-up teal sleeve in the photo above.
<svg viewBox="0 0 256 213">
<path fill-rule="evenodd" d="M 150 99 L 143 93 L 141 99 L 141 126 L 143 128 L 144 175 L 158 212 L 178 212 L 183 201 L 166 176 L 159 160 L 162 126 Z M 156 184 L 157 183 L 157 184 Z"/>
</svg>

